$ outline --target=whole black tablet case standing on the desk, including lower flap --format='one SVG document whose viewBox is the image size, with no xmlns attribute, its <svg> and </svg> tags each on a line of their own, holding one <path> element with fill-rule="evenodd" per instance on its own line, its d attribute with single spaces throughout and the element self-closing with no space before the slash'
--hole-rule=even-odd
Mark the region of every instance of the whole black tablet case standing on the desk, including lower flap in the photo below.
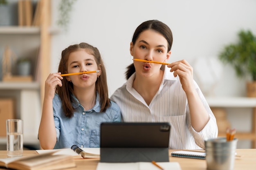
<svg viewBox="0 0 256 170">
<path fill-rule="evenodd" d="M 102 123 L 101 162 L 168 162 L 169 123 Z"/>
</svg>

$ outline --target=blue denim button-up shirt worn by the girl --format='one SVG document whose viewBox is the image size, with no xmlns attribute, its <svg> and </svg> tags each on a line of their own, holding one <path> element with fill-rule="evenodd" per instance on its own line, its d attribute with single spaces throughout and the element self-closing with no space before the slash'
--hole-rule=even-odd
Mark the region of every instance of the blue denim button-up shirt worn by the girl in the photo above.
<svg viewBox="0 0 256 170">
<path fill-rule="evenodd" d="M 73 95 L 74 97 L 74 95 Z M 76 97 L 74 117 L 65 117 L 62 102 L 58 94 L 53 99 L 54 123 L 57 132 L 57 143 L 54 149 L 71 148 L 72 145 L 85 148 L 100 147 L 101 122 L 120 122 L 121 111 L 119 106 L 111 101 L 111 106 L 105 113 L 100 112 L 99 94 L 96 104 L 90 110 L 83 110 Z"/>
</svg>

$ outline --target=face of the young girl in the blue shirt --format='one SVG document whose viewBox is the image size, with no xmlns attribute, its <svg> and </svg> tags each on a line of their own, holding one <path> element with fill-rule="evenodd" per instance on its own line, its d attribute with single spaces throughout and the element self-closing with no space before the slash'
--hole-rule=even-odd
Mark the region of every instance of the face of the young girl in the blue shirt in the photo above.
<svg viewBox="0 0 256 170">
<path fill-rule="evenodd" d="M 67 72 L 79 73 L 85 71 L 99 70 L 93 55 L 88 54 L 84 49 L 70 53 L 67 60 Z M 72 81 L 74 88 L 85 88 L 95 86 L 97 77 L 101 73 L 89 73 L 80 75 L 71 75 L 67 81 Z"/>
</svg>

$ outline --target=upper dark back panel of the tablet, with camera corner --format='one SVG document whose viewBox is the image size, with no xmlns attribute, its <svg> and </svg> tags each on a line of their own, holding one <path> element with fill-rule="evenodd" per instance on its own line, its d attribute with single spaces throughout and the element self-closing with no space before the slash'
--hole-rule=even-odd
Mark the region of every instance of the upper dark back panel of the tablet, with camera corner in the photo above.
<svg viewBox="0 0 256 170">
<path fill-rule="evenodd" d="M 168 148 L 169 123 L 101 123 L 100 147 Z"/>
</svg>

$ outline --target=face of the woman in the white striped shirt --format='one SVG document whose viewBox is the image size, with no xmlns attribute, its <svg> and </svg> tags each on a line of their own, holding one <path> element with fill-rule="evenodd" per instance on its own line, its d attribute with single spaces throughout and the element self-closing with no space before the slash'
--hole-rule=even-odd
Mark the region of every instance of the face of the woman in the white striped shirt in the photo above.
<svg viewBox="0 0 256 170">
<path fill-rule="evenodd" d="M 150 29 L 143 31 L 135 44 L 131 42 L 130 53 L 133 58 L 156 62 L 166 62 L 171 55 L 164 36 Z M 136 73 L 150 76 L 153 73 L 159 73 L 162 65 L 134 61 L 134 66 Z"/>
</svg>

